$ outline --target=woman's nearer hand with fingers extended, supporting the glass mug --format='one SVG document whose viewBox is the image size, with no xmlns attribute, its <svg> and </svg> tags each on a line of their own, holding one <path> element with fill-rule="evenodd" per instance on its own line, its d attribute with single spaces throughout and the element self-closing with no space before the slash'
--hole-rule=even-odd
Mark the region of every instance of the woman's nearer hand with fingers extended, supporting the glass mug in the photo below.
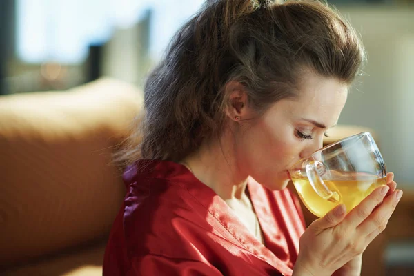
<svg viewBox="0 0 414 276">
<path fill-rule="evenodd" d="M 360 255 L 384 230 L 402 195 L 392 179 L 388 174 L 387 185 L 375 189 L 348 215 L 339 204 L 313 221 L 300 239 L 293 275 L 332 275 L 342 267 L 346 275 L 359 275 Z"/>
</svg>

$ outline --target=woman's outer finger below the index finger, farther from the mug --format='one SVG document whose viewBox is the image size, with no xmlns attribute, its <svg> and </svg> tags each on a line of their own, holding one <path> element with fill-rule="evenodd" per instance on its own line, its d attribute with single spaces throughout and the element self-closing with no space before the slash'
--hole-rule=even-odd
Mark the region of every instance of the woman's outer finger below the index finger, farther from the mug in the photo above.
<svg viewBox="0 0 414 276">
<path fill-rule="evenodd" d="M 391 197 L 384 200 L 375 212 L 357 227 L 359 235 L 367 235 L 366 242 L 372 242 L 385 229 L 388 220 L 402 197 L 402 190 L 396 190 Z"/>
</svg>

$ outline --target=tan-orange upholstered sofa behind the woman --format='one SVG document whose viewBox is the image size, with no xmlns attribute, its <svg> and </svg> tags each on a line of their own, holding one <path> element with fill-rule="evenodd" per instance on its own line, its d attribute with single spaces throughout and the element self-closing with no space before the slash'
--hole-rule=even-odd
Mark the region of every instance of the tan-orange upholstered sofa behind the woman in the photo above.
<svg viewBox="0 0 414 276">
<path fill-rule="evenodd" d="M 0 97 L 0 275 L 102 274 L 125 193 L 111 157 L 141 110 L 137 88 L 108 78 Z M 364 130 L 338 126 L 325 144 Z M 389 234 L 368 248 L 362 275 L 385 275 L 388 237 L 413 237 L 412 198 L 404 195 Z M 315 219 L 304 213 L 308 223 Z"/>
</svg>

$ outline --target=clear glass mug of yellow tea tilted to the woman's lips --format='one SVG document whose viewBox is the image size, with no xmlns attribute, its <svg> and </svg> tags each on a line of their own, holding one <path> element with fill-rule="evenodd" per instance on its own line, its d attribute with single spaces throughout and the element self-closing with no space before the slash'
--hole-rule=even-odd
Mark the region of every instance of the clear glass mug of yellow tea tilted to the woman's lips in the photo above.
<svg viewBox="0 0 414 276">
<path fill-rule="evenodd" d="M 369 132 L 346 137 L 298 161 L 289 170 L 300 199 L 323 217 L 338 204 L 349 212 L 386 184 L 386 166 Z"/>
</svg>

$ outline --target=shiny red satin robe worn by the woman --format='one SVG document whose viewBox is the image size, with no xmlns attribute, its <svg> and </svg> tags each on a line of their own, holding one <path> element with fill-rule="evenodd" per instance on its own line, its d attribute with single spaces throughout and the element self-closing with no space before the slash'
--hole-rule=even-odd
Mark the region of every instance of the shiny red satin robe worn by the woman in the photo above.
<svg viewBox="0 0 414 276">
<path fill-rule="evenodd" d="M 124 182 L 103 276 L 292 275 L 305 227 L 288 189 L 270 191 L 248 181 L 265 246 L 181 164 L 141 160 L 126 169 Z"/>
</svg>

